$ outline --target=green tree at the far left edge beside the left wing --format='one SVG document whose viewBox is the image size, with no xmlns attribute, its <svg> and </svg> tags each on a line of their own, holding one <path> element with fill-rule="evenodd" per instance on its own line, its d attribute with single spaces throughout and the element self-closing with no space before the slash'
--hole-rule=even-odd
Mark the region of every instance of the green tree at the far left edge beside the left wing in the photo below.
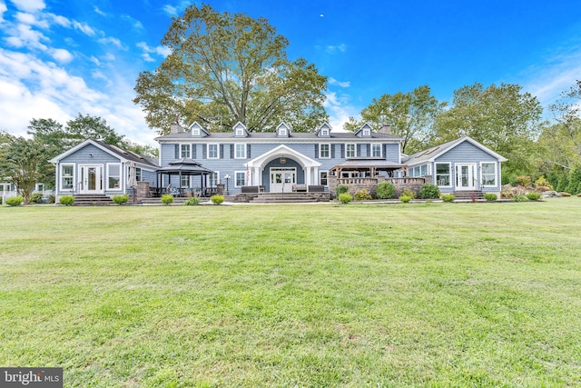
<svg viewBox="0 0 581 388">
<path fill-rule="evenodd" d="M 35 184 L 45 174 L 44 148 L 33 139 L 12 134 L 1 133 L 0 139 L 0 176 L 10 179 L 29 204 Z"/>
</svg>

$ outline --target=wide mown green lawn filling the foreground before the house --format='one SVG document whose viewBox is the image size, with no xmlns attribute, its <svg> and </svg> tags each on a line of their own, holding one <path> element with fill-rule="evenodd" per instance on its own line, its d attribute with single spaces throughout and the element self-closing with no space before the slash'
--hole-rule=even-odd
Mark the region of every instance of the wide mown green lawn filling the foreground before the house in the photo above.
<svg viewBox="0 0 581 388">
<path fill-rule="evenodd" d="M 0 365 L 66 387 L 578 386 L 581 198 L 0 207 Z"/>
</svg>

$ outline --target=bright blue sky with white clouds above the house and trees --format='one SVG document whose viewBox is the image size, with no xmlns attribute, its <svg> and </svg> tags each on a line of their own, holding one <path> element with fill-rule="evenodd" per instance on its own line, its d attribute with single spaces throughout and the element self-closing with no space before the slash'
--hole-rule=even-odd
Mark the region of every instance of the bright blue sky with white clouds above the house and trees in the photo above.
<svg viewBox="0 0 581 388">
<path fill-rule="evenodd" d="M 515 83 L 547 105 L 581 78 L 580 0 L 206 3 L 266 17 L 289 39 L 291 59 L 327 75 L 335 129 L 372 98 L 419 85 L 450 102 L 463 85 Z M 154 144 L 133 86 L 168 54 L 162 35 L 189 4 L 0 0 L 0 129 L 25 134 L 32 118 L 93 114 Z"/>
</svg>

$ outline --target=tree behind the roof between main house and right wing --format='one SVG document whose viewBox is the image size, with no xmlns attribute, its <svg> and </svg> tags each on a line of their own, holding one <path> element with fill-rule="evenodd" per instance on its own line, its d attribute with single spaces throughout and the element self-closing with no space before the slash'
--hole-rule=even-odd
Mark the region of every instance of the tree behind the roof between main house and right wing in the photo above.
<svg viewBox="0 0 581 388">
<path fill-rule="evenodd" d="M 415 88 L 413 92 L 382 95 L 373 99 L 361 111 L 361 121 L 350 117 L 345 129 L 354 130 L 364 123 L 379 127 L 391 126 L 391 133 L 403 138 L 401 152 L 414 154 L 424 149 L 432 136 L 432 124 L 436 115 L 446 106 L 431 95 L 428 85 Z"/>
</svg>

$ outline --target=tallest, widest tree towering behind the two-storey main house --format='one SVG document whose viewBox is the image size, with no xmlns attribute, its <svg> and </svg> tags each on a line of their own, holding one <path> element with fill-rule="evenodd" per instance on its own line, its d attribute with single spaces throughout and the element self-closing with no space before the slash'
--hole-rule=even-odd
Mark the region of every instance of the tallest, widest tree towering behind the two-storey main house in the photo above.
<svg viewBox="0 0 581 388">
<path fill-rule="evenodd" d="M 239 121 L 255 131 L 281 121 L 312 131 L 328 120 L 327 77 L 303 58 L 288 60 L 288 40 L 262 17 L 191 5 L 173 19 L 162 45 L 172 54 L 139 75 L 133 100 L 160 134 L 179 118 L 213 131 L 229 131 Z"/>
</svg>

